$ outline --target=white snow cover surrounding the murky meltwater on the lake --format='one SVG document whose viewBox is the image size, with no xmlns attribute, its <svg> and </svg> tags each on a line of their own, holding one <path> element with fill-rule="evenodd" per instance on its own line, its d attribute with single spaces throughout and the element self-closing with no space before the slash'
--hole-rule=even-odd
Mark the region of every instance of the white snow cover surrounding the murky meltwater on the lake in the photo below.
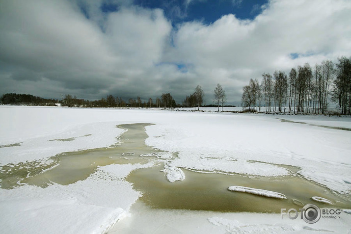
<svg viewBox="0 0 351 234">
<path fill-rule="evenodd" d="M 145 143 L 178 152 L 179 158 L 170 160 L 165 168 L 167 173 L 178 173 L 176 177 L 169 174 L 171 180 L 187 180 L 179 168 L 276 177 L 290 173 L 274 165 L 285 164 L 299 167 L 299 175 L 340 194 L 349 194 L 351 190 L 351 131 L 313 126 L 351 129 L 350 117 L 0 106 L 0 123 L 0 166 L 41 160 L 62 152 L 108 147 L 123 132 L 116 125 L 153 123 L 146 127 L 149 138 Z M 68 138 L 69 141 L 57 140 Z M 88 179 L 69 185 L 0 189 L 1 233 L 105 232 L 118 220 L 135 218 L 130 208 L 141 194 L 124 178 L 136 168 L 152 165 L 112 164 L 99 167 Z M 173 215 L 182 219 L 180 211 L 168 210 L 163 215 L 158 212 L 146 209 L 140 219 L 150 220 L 144 225 L 152 222 L 152 215 L 159 218 L 155 223 L 162 222 L 162 217 L 166 223 Z M 346 213 L 340 219 L 322 220 L 314 225 L 299 219 L 281 220 L 280 214 L 214 215 L 184 211 L 184 215 L 192 218 L 179 221 L 178 227 L 183 225 L 193 233 L 198 233 L 197 227 L 201 225 L 211 225 L 205 233 L 311 230 L 347 233 L 351 229 L 351 215 Z M 152 233 L 156 229 L 156 225 L 150 224 L 149 229 L 140 227 L 137 231 Z M 185 232 L 182 228 L 178 231 Z"/>
</svg>

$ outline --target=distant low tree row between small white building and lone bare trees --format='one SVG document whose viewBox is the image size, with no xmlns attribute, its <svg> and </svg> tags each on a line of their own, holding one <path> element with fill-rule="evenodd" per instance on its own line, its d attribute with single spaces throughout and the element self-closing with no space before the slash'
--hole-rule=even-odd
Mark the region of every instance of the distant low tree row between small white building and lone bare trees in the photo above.
<svg viewBox="0 0 351 234">
<path fill-rule="evenodd" d="M 130 98 L 128 101 L 123 100 L 119 97 L 108 95 L 105 98 L 88 101 L 84 99 L 78 99 L 72 95 L 66 94 L 61 101 L 62 106 L 68 107 L 139 107 L 139 108 L 175 108 L 180 107 L 180 104 L 176 104 L 170 93 L 163 93 L 161 97 L 156 98 L 155 102 L 152 98 L 148 99 L 148 102 L 142 101 L 139 96 L 136 99 Z"/>
</svg>

